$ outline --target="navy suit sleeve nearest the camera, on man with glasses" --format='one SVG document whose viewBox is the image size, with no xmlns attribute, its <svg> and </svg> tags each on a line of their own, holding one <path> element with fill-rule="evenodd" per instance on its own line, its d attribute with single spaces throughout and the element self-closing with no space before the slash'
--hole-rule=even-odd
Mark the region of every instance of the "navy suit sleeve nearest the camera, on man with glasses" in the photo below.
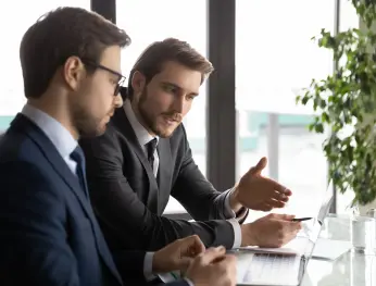
<svg viewBox="0 0 376 286">
<path fill-rule="evenodd" d="M 28 163 L 0 165 L 0 285 L 78 286 L 64 204 Z"/>
</svg>

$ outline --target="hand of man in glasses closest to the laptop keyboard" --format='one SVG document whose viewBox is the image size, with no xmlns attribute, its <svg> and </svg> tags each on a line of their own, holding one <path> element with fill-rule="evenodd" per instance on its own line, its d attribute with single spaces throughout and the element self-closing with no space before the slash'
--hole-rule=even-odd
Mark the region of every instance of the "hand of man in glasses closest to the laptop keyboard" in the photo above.
<svg viewBox="0 0 376 286">
<path fill-rule="evenodd" d="M 209 248 L 192 261 L 186 277 L 195 286 L 235 286 L 236 258 L 226 256 L 224 247 Z"/>
</svg>

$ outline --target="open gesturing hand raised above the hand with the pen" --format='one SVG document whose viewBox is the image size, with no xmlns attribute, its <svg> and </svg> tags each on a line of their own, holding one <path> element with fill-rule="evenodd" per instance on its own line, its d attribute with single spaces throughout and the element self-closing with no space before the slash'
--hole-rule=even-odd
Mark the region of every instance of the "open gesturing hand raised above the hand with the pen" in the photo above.
<svg viewBox="0 0 376 286">
<path fill-rule="evenodd" d="M 261 175 L 266 163 L 266 158 L 262 158 L 240 178 L 230 197 L 233 210 L 237 211 L 241 206 L 258 211 L 285 207 L 292 192 L 277 182 Z"/>
</svg>

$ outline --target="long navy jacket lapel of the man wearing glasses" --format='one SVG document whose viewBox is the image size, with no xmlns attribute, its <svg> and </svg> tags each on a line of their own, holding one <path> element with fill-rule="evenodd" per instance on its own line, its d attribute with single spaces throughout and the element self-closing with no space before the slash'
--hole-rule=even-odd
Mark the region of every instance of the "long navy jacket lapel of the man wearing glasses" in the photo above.
<svg viewBox="0 0 376 286">
<path fill-rule="evenodd" d="M 50 141 L 50 139 L 45 135 L 45 133 L 38 126 L 36 126 L 33 122 L 30 122 L 26 116 L 18 114 L 16 119 L 12 122 L 12 125 L 14 125 L 15 128 L 18 128 L 23 132 L 25 130 L 25 125 L 26 126 L 28 125 L 30 127 L 30 128 L 26 128 L 27 135 L 36 142 L 36 145 L 39 146 L 41 152 L 43 153 L 46 159 L 49 161 L 53 170 L 63 178 L 63 181 L 66 183 L 66 185 L 76 196 L 82 208 L 84 209 L 88 217 L 91 220 L 99 253 L 101 254 L 104 263 L 106 263 L 112 274 L 115 277 L 117 277 L 117 279 L 121 282 L 122 279 L 118 273 L 116 272 L 116 268 L 112 261 L 112 258 L 110 257 L 109 249 L 105 249 L 105 250 L 103 249 L 103 248 L 106 248 L 105 241 L 102 237 L 102 233 L 97 223 L 97 219 L 95 217 L 90 201 L 86 197 L 83 188 L 80 187 L 77 177 L 72 173 L 66 162 L 60 156 L 59 151 L 57 150 L 54 145 Z"/>
</svg>

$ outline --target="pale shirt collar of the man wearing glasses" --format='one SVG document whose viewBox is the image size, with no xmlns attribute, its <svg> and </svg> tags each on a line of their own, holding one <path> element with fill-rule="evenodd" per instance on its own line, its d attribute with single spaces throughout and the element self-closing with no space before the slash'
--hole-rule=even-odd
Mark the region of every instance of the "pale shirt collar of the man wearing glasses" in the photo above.
<svg viewBox="0 0 376 286">
<path fill-rule="evenodd" d="M 77 141 L 72 134 L 46 112 L 26 104 L 22 110 L 22 114 L 33 121 L 47 135 L 62 158 L 71 156 L 77 147 Z"/>
</svg>

